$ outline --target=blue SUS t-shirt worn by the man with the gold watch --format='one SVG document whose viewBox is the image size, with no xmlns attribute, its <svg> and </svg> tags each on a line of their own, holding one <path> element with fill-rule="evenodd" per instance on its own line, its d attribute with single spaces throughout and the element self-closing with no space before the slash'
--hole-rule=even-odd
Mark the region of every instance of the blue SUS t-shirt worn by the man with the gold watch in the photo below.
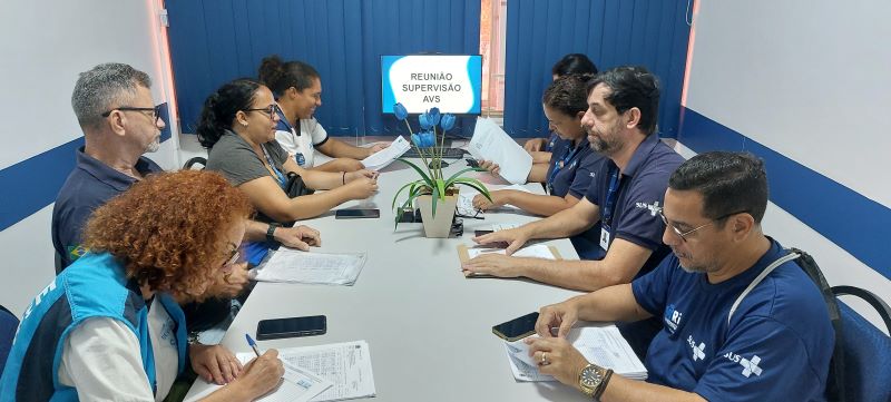
<svg viewBox="0 0 891 402">
<path fill-rule="evenodd" d="M 727 324 L 738 295 L 785 254 L 771 239 L 755 265 L 717 284 L 669 255 L 635 280 L 635 300 L 663 322 L 647 351 L 647 381 L 708 401 L 825 401 L 834 332 L 820 291 L 794 261 L 755 286 Z"/>
</svg>

